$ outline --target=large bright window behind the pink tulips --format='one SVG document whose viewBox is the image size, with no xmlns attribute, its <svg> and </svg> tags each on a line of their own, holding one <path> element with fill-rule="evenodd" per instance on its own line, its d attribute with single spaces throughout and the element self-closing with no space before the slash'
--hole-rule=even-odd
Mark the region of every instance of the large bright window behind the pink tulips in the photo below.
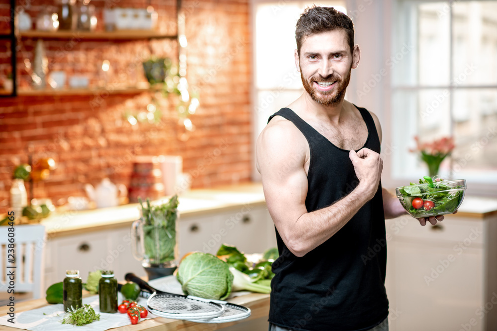
<svg viewBox="0 0 497 331">
<path fill-rule="evenodd" d="M 456 148 L 440 175 L 497 184 L 497 2 L 398 0 L 393 49 L 408 44 L 392 68 L 392 178 L 427 168 L 407 146 L 453 135 Z M 493 189 L 492 189 L 493 188 Z"/>
</svg>

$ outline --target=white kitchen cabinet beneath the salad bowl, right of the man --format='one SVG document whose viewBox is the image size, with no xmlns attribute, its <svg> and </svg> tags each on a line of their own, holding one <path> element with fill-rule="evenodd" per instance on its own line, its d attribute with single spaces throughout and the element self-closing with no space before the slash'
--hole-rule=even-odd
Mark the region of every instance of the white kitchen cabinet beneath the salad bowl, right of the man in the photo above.
<svg viewBox="0 0 497 331">
<path fill-rule="evenodd" d="M 497 330 L 497 217 L 386 221 L 390 331 Z M 497 308 L 497 307 L 496 307 Z"/>
</svg>

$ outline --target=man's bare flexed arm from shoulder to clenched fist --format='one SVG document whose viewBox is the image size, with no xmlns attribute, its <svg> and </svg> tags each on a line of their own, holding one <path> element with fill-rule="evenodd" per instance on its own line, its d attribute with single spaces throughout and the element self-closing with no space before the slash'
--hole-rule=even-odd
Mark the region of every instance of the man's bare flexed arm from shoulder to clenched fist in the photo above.
<svg viewBox="0 0 497 331">
<path fill-rule="evenodd" d="M 257 140 L 257 167 L 269 213 L 281 238 L 293 254 L 302 257 L 328 240 L 373 198 L 382 162 L 378 153 L 367 148 L 351 151 L 359 185 L 331 206 L 307 212 L 307 140 L 292 123 L 275 120 Z"/>
</svg>

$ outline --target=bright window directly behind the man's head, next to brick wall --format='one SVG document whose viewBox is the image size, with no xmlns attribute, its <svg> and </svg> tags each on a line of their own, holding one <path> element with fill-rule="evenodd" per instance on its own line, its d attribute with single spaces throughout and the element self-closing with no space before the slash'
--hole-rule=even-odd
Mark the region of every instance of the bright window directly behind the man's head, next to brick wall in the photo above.
<svg viewBox="0 0 497 331">
<path fill-rule="evenodd" d="M 325 2 L 252 2 L 254 36 L 254 116 L 253 141 L 264 129 L 269 116 L 287 106 L 303 92 L 295 67 L 295 24 L 306 7 L 328 6 L 346 13 L 344 0 Z M 253 157 L 255 160 L 255 156 Z M 255 162 L 255 161 L 254 161 Z M 252 178 L 260 179 L 255 166 Z"/>
</svg>

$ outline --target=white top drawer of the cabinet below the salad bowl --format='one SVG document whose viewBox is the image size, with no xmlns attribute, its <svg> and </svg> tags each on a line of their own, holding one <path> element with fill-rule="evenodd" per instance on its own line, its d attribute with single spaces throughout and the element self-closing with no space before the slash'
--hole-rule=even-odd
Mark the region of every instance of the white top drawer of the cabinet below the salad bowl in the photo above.
<svg viewBox="0 0 497 331">
<path fill-rule="evenodd" d="M 387 234 L 396 241 L 463 243 L 465 246 L 481 247 L 486 234 L 483 220 L 465 220 L 450 217 L 450 215 L 435 226 L 429 223 L 426 226 L 421 226 L 411 216 L 389 219 L 386 220 L 385 224 Z"/>
</svg>

